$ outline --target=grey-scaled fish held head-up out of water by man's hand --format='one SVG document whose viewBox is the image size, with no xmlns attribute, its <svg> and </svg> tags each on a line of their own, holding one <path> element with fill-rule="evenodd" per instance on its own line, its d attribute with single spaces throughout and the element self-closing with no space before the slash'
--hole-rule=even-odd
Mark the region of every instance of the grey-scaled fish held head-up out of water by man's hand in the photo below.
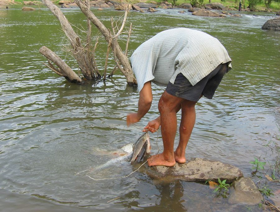
<svg viewBox="0 0 280 212">
<path fill-rule="evenodd" d="M 146 152 L 150 153 L 150 150 L 151 150 L 150 137 L 149 137 L 149 134 L 147 132 L 145 132 L 142 136 L 140 136 L 138 138 L 138 140 L 136 141 L 136 143 L 134 144 L 132 158 L 130 160 L 131 164 L 133 164 L 135 162 L 135 159 L 137 159 L 139 153 L 141 152 L 141 150 L 142 150 L 142 148 L 145 144 L 147 144 Z M 143 153 L 141 153 L 141 154 L 143 156 Z M 141 160 L 141 158 L 140 158 L 140 160 Z"/>
</svg>

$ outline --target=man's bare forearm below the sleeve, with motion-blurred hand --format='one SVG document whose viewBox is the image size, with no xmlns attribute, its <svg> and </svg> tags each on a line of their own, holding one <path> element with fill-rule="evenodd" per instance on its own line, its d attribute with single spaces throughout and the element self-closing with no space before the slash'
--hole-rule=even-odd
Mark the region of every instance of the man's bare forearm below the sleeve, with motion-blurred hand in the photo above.
<svg viewBox="0 0 280 212">
<path fill-rule="evenodd" d="M 137 113 L 130 113 L 127 115 L 126 124 L 129 126 L 132 123 L 139 122 L 143 116 L 149 111 L 152 105 L 152 88 L 151 81 L 144 84 L 142 90 L 140 91 L 140 96 L 138 100 L 138 111 Z"/>
</svg>

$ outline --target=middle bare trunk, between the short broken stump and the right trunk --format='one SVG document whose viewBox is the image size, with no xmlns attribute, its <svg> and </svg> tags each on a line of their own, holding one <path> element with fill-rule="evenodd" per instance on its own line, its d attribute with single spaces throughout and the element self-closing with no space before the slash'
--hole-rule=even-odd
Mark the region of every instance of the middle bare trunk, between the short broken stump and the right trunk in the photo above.
<svg viewBox="0 0 280 212">
<path fill-rule="evenodd" d="M 49 8 L 49 10 L 54 14 L 54 16 L 57 17 L 57 19 L 60 21 L 63 31 L 65 32 L 66 36 L 70 40 L 71 46 L 72 46 L 72 53 L 75 59 L 78 62 L 78 65 L 82 71 L 82 74 L 87 79 L 95 79 L 96 74 L 97 76 L 99 72 L 96 73 L 96 68 L 93 63 L 93 57 L 92 52 L 90 51 L 90 45 L 87 44 L 85 47 L 82 46 L 81 40 L 79 36 L 74 32 L 72 29 L 72 26 L 70 25 L 67 18 L 63 15 L 61 10 L 55 6 L 50 0 L 42 0 L 46 7 Z M 91 30 L 88 30 L 88 33 L 90 33 Z M 87 36 L 87 40 L 89 42 L 89 37 Z"/>
</svg>

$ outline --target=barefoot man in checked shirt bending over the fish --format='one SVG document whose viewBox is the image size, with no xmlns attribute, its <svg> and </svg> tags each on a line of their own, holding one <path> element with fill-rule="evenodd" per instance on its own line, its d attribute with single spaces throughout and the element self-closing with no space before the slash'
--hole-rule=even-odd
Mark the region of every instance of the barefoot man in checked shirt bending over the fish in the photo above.
<svg viewBox="0 0 280 212">
<path fill-rule="evenodd" d="M 163 152 L 148 159 L 149 166 L 185 163 L 185 150 L 195 122 L 195 104 L 212 99 L 223 76 L 231 70 L 231 58 L 218 39 L 198 30 L 165 30 L 141 44 L 131 56 L 140 91 L 137 113 L 127 115 L 127 125 L 140 121 L 152 105 L 151 82 L 167 86 L 158 103 L 160 116 L 148 122 L 146 131 L 161 126 Z M 174 151 L 176 113 L 182 110 L 180 140 Z"/>
</svg>

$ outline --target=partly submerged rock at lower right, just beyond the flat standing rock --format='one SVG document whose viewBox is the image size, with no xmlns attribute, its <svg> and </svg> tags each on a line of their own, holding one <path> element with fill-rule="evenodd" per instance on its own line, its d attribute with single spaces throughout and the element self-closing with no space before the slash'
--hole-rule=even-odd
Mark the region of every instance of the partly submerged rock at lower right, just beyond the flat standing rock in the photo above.
<svg viewBox="0 0 280 212">
<path fill-rule="evenodd" d="M 241 177 L 232 186 L 234 190 L 228 198 L 230 204 L 257 205 L 264 199 L 249 177 Z"/>
</svg>

